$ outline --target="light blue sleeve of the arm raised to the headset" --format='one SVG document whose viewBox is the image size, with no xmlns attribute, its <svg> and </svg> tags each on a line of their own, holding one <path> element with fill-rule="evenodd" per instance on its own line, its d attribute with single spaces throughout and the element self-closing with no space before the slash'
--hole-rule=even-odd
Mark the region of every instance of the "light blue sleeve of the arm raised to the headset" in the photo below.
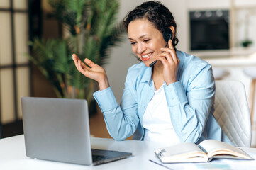
<svg viewBox="0 0 256 170">
<path fill-rule="evenodd" d="M 177 81 L 164 88 L 172 125 L 179 139 L 196 143 L 213 106 L 215 83 L 209 64 L 189 73 L 187 81 Z"/>
</svg>

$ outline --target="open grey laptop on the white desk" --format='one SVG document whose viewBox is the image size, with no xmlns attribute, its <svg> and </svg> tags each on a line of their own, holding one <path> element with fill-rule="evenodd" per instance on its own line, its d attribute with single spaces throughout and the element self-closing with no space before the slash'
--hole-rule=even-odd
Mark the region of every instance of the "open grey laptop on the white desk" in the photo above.
<svg viewBox="0 0 256 170">
<path fill-rule="evenodd" d="M 132 155 L 91 149 L 86 100 L 23 97 L 21 107 L 27 157 L 97 165 Z"/>
</svg>

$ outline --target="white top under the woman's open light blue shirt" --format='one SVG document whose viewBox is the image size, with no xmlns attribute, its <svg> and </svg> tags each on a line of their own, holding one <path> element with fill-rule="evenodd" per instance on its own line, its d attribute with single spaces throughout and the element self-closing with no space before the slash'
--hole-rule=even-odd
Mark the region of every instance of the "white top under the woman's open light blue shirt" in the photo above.
<svg viewBox="0 0 256 170">
<path fill-rule="evenodd" d="M 172 126 L 163 85 L 156 91 L 143 115 L 144 140 L 175 145 L 180 143 Z"/>
</svg>

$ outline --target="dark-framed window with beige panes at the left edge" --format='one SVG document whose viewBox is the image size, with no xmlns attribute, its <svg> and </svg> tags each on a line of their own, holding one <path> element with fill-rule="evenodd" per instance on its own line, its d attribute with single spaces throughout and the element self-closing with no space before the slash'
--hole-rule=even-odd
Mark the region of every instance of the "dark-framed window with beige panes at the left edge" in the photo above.
<svg viewBox="0 0 256 170">
<path fill-rule="evenodd" d="M 2 134 L 4 134 L 4 125 L 21 122 L 21 96 L 31 95 L 30 62 L 24 54 L 29 53 L 28 40 L 35 32 L 33 30 L 33 33 L 30 33 L 36 25 L 31 25 L 35 17 L 29 17 L 30 14 L 35 15 L 35 13 L 28 8 L 35 4 L 35 1 L 38 0 L 0 1 L 0 128 Z M 37 4 L 40 4 L 40 1 Z"/>
</svg>

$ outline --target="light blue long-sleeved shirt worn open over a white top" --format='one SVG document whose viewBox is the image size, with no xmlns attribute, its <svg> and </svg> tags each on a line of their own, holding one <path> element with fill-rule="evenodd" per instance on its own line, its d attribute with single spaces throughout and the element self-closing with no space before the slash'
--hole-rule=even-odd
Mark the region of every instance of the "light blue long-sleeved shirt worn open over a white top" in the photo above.
<svg viewBox="0 0 256 170">
<path fill-rule="evenodd" d="M 199 57 L 176 50 L 180 63 L 177 82 L 164 84 L 169 114 L 180 142 L 199 143 L 206 139 L 232 142 L 213 117 L 215 81 L 211 65 Z M 128 69 L 120 106 L 111 87 L 96 91 L 96 99 L 109 134 L 115 140 L 143 140 L 143 114 L 154 96 L 152 68 L 143 62 Z"/>
</svg>

